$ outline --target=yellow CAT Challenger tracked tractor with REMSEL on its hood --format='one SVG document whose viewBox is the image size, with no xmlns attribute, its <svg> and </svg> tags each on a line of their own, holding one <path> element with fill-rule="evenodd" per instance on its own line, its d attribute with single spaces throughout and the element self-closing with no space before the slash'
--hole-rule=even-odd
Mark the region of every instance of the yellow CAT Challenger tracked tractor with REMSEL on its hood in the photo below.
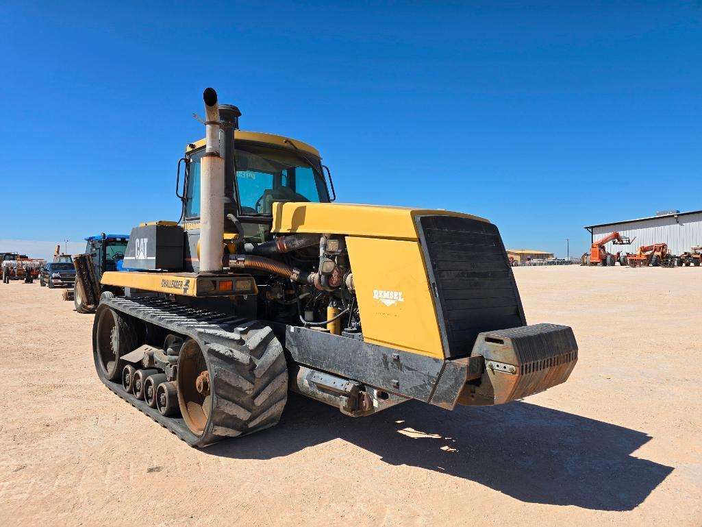
<svg viewBox="0 0 702 527">
<path fill-rule="evenodd" d="M 573 332 L 527 325 L 496 226 L 333 204 L 317 150 L 240 131 L 213 89 L 204 102 L 182 221 L 133 228 L 123 269 L 102 275 L 93 350 L 112 391 L 202 446 L 273 426 L 289 389 L 363 416 L 508 403 L 569 377 Z"/>
</svg>

